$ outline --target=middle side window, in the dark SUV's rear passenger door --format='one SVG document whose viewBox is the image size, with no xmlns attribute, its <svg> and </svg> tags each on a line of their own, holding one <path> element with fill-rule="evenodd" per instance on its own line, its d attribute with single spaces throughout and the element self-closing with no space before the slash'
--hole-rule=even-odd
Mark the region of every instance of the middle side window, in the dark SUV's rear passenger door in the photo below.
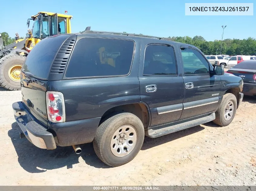
<svg viewBox="0 0 256 191">
<path fill-rule="evenodd" d="M 177 75 L 173 47 L 165 45 L 147 46 L 143 75 Z"/>
</svg>

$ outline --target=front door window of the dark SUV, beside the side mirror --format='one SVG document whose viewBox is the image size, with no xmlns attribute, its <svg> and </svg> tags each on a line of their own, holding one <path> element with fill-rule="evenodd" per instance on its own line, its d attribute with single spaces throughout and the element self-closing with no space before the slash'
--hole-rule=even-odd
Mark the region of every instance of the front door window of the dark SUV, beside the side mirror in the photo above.
<svg viewBox="0 0 256 191">
<path fill-rule="evenodd" d="M 209 64 L 205 58 L 195 49 L 181 50 L 185 75 L 209 74 Z"/>
</svg>

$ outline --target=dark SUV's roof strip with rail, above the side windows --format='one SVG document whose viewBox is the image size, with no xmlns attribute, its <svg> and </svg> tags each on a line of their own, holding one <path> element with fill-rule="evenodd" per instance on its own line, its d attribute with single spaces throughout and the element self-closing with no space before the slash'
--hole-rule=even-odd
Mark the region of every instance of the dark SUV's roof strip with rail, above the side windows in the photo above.
<svg viewBox="0 0 256 191">
<path fill-rule="evenodd" d="M 172 41 L 169 38 L 165 37 L 155 37 L 155 36 L 148 36 L 148 35 L 141 35 L 141 34 L 131 34 L 131 33 L 118 33 L 118 32 L 106 32 L 106 31 L 92 31 L 87 30 L 83 31 L 81 33 L 74 33 L 78 37 L 83 36 L 93 36 L 93 37 L 108 37 L 108 38 L 122 38 L 122 39 L 130 39 L 130 40 L 136 40 L 136 39 L 144 39 L 148 41 L 149 43 L 168 43 L 168 44 L 177 44 L 178 46 L 189 46 L 195 49 L 198 49 L 196 46 L 193 46 L 191 44 L 185 44 L 185 43 L 179 43 Z"/>
</svg>

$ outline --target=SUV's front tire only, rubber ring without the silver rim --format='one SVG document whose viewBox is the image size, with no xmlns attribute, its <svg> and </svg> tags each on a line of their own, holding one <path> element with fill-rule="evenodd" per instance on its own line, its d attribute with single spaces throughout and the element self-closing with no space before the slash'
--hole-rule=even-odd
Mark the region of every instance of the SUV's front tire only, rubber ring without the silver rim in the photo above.
<svg viewBox="0 0 256 191">
<path fill-rule="evenodd" d="M 234 103 L 234 110 L 231 118 L 229 120 L 225 119 L 225 109 L 229 101 L 232 101 Z M 232 120 L 234 119 L 234 116 L 236 114 L 237 110 L 237 99 L 234 94 L 228 93 L 225 94 L 222 98 L 221 104 L 218 108 L 218 110 L 215 112 L 215 119 L 213 120 L 213 123 L 219 125 L 219 126 L 228 126 Z"/>
</svg>

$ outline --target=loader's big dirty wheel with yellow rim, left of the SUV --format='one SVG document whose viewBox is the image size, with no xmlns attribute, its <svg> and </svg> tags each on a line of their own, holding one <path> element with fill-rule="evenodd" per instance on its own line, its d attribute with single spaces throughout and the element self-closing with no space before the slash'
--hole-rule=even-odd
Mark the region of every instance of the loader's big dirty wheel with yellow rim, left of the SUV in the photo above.
<svg viewBox="0 0 256 191">
<path fill-rule="evenodd" d="M 20 90 L 20 73 L 25 56 L 8 54 L 0 60 L 0 85 L 8 90 Z"/>
</svg>

